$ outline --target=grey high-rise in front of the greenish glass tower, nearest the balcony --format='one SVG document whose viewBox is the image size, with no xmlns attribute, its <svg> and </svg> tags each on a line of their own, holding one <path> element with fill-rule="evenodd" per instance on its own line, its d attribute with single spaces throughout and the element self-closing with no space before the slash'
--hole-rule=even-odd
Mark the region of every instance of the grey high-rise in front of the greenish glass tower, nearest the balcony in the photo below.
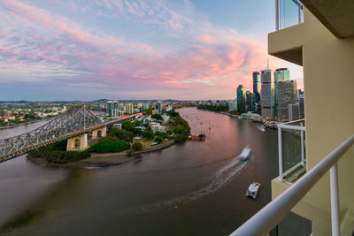
<svg viewBox="0 0 354 236">
<path fill-rule="evenodd" d="M 296 80 L 278 81 L 278 118 L 289 120 L 289 104 L 296 102 Z"/>
</svg>

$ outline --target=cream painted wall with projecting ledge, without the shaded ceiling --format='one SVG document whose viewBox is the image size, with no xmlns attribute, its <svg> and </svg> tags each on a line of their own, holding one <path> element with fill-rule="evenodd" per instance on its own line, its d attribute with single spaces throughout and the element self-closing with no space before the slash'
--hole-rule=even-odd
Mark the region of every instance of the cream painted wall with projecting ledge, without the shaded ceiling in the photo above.
<svg viewBox="0 0 354 236">
<path fill-rule="evenodd" d="M 354 133 L 354 38 L 337 39 L 310 11 L 304 9 L 303 24 L 269 34 L 268 44 L 271 55 L 287 48 L 303 49 L 306 165 L 310 170 Z M 353 148 L 342 156 L 338 171 L 343 216 L 346 209 L 354 209 Z M 274 179 L 272 188 L 275 197 L 286 187 Z M 323 225 L 326 220 L 319 221 L 319 214 L 315 212 L 328 214 L 330 211 L 328 174 L 299 206 L 301 204 L 310 205 L 317 211 L 311 213 L 301 207 L 294 211 L 310 218 L 315 228 L 320 228 L 319 225 L 326 228 Z"/>
</svg>

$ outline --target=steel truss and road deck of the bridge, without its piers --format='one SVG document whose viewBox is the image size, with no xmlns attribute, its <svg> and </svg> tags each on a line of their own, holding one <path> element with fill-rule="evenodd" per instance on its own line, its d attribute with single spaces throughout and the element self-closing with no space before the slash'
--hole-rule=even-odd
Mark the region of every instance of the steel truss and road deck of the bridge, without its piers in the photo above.
<svg viewBox="0 0 354 236">
<path fill-rule="evenodd" d="M 73 128 L 72 130 L 66 129 L 66 130 L 70 130 L 70 132 L 63 133 L 63 135 L 59 135 L 58 137 L 55 137 L 55 135 L 53 134 L 51 136 L 51 138 L 50 138 L 50 135 L 45 135 L 45 133 L 44 134 L 43 133 L 37 134 L 37 130 L 41 130 L 42 127 L 47 126 L 48 124 L 52 123 L 53 120 L 55 121 L 58 117 L 63 116 L 63 115 L 60 115 L 57 118 L 54 118 L 53 120 L 51 120 L 46 125 L 41 126 L 37 129 L 35 129 L 34 131 L 20 134 L 18 136 L 12 137 L 12 138 L 0 140 L 0 163 L 3 163 L 5 161 L 8 161 L 8 160 L 18 157 L 18 156 L 22 156 L 22 155 L 26 154 L 27 152 L 34 150 L 36 148 L 42 148 L 42 147 L 48 146 L 48 145 L 50 145 L 54 142 L 57 142 L 57 141 L 67 140 L 67 139 L 73 138 L 75 136 L 81 135 L 83 133 L 89 133 L 91 131 L 102 128 L 104 126 L 113 125 L 114 123 L 122 122 L 127 119 L 135 118 L 136 116 L 142 115 L 142 112 L 139 112 L 139 113 L 135 113 L 132 115 L 124 116 L 122 118 L 110 120 L 107 122 L 102 122 L 101 119 L 98 118 L 96 115 L 94 115 L 91 110 L 87 109 L 86 106 L 81 106 L 81 109 L 79 111 L 75 112 L 74 116 L 78 115 L 79 112 L 82 113 L 82 110 L 83 110 L 83 119 L 81 119 L 81 123 L 83 123 L 83 124 L 81 124 L 81 125 L 83 125 L 83 126 L 81 126 L 81 129 L 80 128 Z M 89 126 L 89 127 L 85 126 L 85 122 L 88 121 L 88 118 L 85 118 L 85 110 L 86 110 L 86 113 L 89 113 L 91 119 L 93 116 L 95 116 L 94 118 L 99 119 L 100 122 L 102 122 L 102 123 L 100 123 L 96 126 Z M 68 113 L 68 112 L 66 112 L 66 113 Z M 67 120 L 70 120 L 70 119 L 73 119 L 73 116 Z M 66 123 L 67 123 L 67 120 L 65 120 Z M 61 126 L 61 125 L 62 124 L 59 124 L 57 127 L 51 128 L 48 131 L 48 133 L 52 133 L 55 129 L 58 129 L 59 126 Z M 68 125 L 72 125 L 72 124 L 68 124 Z M 86 125 L 89 125 L 89 124 L 86 124 Z M 36 135 L 31 136 L 30 133 L 34 133 L 34 132 Z M 58 133 L 58 132 L 56 132 L 56 133 Z M 43 135 L 46 136 L 46 140 L 41 139 Z M 22 139 L 21 136 L 22 137 L 26 136 L 26 138 Z"/>
</svg>

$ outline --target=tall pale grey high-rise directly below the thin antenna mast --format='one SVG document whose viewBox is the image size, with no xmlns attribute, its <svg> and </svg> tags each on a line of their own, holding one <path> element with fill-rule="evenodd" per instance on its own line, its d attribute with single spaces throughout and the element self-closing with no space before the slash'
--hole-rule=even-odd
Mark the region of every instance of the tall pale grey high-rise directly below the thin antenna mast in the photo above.
<svg viewBox="0 0 354 236">
<path fill-rule="evenodd" d="M 262 117 L 273 118 L 274 95 L 273 95 L 272 71 L 270 69 L 261 71 L 260 79 L 262 82 L 262 89 L 260 95 L 261 104 L 262 104 Z"/>
</svg>

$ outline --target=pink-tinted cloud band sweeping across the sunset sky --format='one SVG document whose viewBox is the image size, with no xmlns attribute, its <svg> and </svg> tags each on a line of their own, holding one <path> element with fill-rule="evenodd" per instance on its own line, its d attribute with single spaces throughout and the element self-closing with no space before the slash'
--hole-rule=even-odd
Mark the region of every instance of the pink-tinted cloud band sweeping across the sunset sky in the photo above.
<svg viewBox="0 0 354 236">
<path fill-rule="evenodd" d="M 99 3 L 112 9 L 122 7 L 114 1 Z M 106 89 L 103 93 L 158 89 L 165 95 L 179 91 L 181 98 L 185 94 L 194 98 L 218 94 L 232 99 L 239 84 L 251 90 L 251 72 L 266 67 L 265 43 L 242 38 L 233 30 L 198 26 L 200 29 L 191 34 L 184 48 L 161 52 L 145 43 L 124 42 L 111 34 L 90 31 L 77 22 L 16 0 L 5 1 L 4 5 L 6 11 L 2 14 L 6 12 L 5 17 L 14 19 L 12 27 L 19 30 L 16 34 L 11 34 L 10 28 L 0 32 L 8 37 L 0 38 L 0 42 L 17 46 L 0 46 L 0 57 L 6 57 L 0 65 L 16 69 L 33 65 L 34 74 L 42 72 L 41 76 L 53 78 L 51 83 L 59 86 L 87 82 L 104 85 L 100 88 Z M 154 12 L 150 8 L 142 11 L 134 3 L 127 6 L 128 11 L 142 18 Z M 73 5 L 73 9 L 77 11 L 78 6 Z M 173 12 L 170 15 L 174 23 L 181 24 L 181 16 Z M 27 79 L 27 83 L 31 80 Z"/>
</svg>

